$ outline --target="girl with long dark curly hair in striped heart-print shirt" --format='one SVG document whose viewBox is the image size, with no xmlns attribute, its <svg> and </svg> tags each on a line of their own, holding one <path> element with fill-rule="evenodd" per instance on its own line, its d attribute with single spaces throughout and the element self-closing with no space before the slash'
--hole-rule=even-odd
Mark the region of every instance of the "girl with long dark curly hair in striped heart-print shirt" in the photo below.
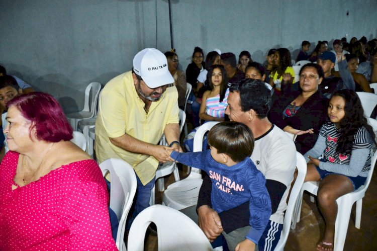
<svg viewBox="0 0 377 251">
<path fill-rule="evenodd" d="M 307 181 L 320 181 L 318 206 L 326 223 L 325 234 L 317 250 L 333 250 L 336 199 L 364 185 L 370 170 L 373 129 L 364 117 L 357 94 L 340 90 L 333 94 L 325 123 L 314 147 L 305 156 Z M 373 147 L 374 148 L 374 147 Z"/>
</svg>

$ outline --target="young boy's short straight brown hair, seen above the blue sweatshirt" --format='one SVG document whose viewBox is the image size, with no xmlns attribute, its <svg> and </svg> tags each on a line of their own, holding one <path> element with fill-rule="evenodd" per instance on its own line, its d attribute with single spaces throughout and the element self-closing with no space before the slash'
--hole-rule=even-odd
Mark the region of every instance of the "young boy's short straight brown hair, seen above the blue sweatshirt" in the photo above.
<svg viewBox="0 0 377 251">
<path fill-rule="evenodd" d="M 254 137 L 250 128 L 236 121 L 216 124 L 208 133 L 208 144 L 225 153 L 235 162 L 250 157 L 254 149 Z"/>
</svg>

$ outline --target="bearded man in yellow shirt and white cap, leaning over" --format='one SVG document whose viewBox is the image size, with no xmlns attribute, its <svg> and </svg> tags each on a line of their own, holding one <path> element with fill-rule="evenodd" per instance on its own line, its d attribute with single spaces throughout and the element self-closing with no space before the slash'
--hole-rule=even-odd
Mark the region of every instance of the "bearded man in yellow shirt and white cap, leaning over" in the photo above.
<svg viewBox="0 0 377 251">
<path fill-rule="evenodd" d="M 111 79 L 102 91 L 96 121 L 97 160 L 115 157 L 133 166 L 137 177 L 133 218 L 149 206 L 158 163 L 172 160 L 166 149 L 182 151 L 173 82 L 164 54 L 147 48 L 134 57 L 132 71 Z M 170 147 L 157 145 L 163 134 Z"/>
</svg>

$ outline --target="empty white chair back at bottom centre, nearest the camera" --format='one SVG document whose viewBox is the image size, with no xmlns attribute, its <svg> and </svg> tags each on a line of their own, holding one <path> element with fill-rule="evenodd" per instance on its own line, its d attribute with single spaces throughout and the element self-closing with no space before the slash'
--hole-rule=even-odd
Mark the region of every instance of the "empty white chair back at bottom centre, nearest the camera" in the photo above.
<svg viewBox="0 0 377 251">
<path fill-rule="evenodd" d="M 144 209 L 131 225 L 128 251 L 144 250 L 145 232 L 153 222 L 157 227 L 158 250 L 213 250 L 199 226 L 183 213 L 162 205 Z"/>
</svg>

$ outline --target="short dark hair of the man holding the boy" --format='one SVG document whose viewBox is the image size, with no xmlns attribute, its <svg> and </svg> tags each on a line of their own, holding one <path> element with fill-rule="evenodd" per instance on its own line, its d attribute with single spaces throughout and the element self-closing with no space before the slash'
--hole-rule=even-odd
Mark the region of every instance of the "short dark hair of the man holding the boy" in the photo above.
<svg viewBox="0 0 377 251">
<path fill-rule="evenodd" d="M 259 119 L 267 117 L 271 109 L 271 91 L 259 79 L 243 79 L 234 83 L 229 91 L 240 95 L 240 106 L 243 112 L 253 109 Z"/>
</svg>

